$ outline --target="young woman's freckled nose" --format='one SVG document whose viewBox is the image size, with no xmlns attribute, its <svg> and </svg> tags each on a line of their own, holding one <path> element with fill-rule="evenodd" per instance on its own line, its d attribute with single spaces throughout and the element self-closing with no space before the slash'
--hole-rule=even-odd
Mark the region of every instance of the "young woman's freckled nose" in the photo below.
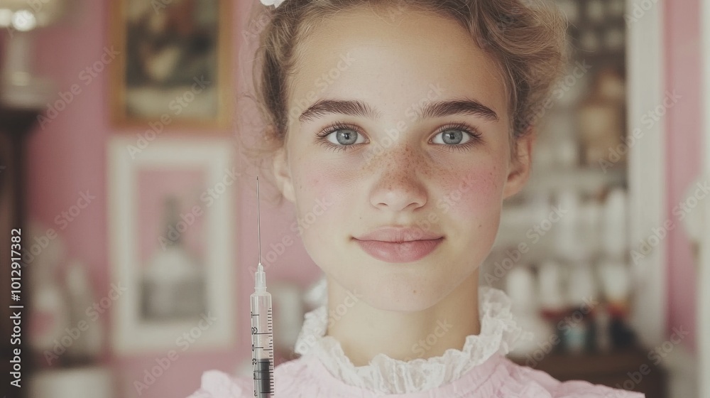
<svg viewBox="0 0 710 398">
<path fill-rule="evenodd" d="M 415 210 L 424 206 L 427 203 L 427 190 L 417 169 L 425 165 L 416 158 L 415 151 L 394 149 L 384 156 L 385 166 L 381 168 L 371 192 L 371 204 L 392 212 Z"/>
</svg>

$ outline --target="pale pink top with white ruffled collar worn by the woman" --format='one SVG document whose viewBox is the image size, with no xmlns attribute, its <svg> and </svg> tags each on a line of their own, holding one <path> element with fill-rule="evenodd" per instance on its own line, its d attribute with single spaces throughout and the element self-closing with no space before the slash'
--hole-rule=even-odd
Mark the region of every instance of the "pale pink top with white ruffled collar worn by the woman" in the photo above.
<svg viewBox="0 0 710 398">
<path fill-rule="evenodd" d="M 588 382 L 559 382 L 504 355 L 525 335 L 510 313 L 503 291 L 481 287 L 481 333 L 469 335 L 462 350 L 409 362 L 380 354 L 356 367 L 341 345 L 324 335 L 327 307 L 306 314 L 296 344 L 302 357 L 274 371 L 274 398 L 642 398 L 643 394 Z M 445 322 L 445 321 L 444 321 Z M 211 370 L 189 398 L 253 397 L 251 377 Z"/>
</svg>

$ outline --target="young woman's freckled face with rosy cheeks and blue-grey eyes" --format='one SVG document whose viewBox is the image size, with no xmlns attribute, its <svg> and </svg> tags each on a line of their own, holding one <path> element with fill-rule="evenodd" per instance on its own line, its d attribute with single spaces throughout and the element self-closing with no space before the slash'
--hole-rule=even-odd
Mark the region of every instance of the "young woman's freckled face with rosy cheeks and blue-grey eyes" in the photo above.
<svg viewBox="0 0 710 398">
<path fill-rule="evenodd" d="M 330 16 L 297 53 L 274 166 L 305 249 L 371 306 L 433 306 L 475 276 L 528 175 L 532 139 L 510 159 L 501 72 L 422 12 Z"/>
</svg>

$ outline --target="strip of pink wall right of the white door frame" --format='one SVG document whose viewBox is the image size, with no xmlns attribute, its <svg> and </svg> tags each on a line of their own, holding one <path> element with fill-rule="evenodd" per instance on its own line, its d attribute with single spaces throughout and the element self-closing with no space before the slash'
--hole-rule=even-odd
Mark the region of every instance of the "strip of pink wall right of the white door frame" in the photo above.
<svg viewBox="0 0 710 398">
<path fill-rule="evenodd" d="M 698 0 L 665 2 L 666 89 L 682 98 L 667 113 L 667 219 L 682 225 L 672 209 L 701 170 L 700 4 Z M 697 216 L 697 215 L 696 215 Z M 688 217 L 694 217 L 689 213 Z M 684 343 L 696 348 L 696 264 L 684 230 L 677 227 L 667 242 L 667 330 L 692 330 Z"/>
</svg>

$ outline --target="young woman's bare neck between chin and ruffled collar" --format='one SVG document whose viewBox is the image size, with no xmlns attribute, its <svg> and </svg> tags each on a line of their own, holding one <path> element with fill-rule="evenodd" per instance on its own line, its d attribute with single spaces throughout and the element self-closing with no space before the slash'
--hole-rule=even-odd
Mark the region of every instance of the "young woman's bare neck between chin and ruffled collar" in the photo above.
<svg viewBox="0 0 710 398">
<path fill-rule="evenodd" d="M 444 355 L 449 348 L 461 350 L 466 336 L 481 333 L 478 273 L 474 272 L 454 291 L 423 311 L 383 311 L 358 301 L 328 326 L 353 365 L 364 366 L 383 353 L 397 360 Z M 343 302 L 348 293 L 329 281 L 328 303 Z M 334 308 L 328 308 L 332 313 Z"/>
</svg>

